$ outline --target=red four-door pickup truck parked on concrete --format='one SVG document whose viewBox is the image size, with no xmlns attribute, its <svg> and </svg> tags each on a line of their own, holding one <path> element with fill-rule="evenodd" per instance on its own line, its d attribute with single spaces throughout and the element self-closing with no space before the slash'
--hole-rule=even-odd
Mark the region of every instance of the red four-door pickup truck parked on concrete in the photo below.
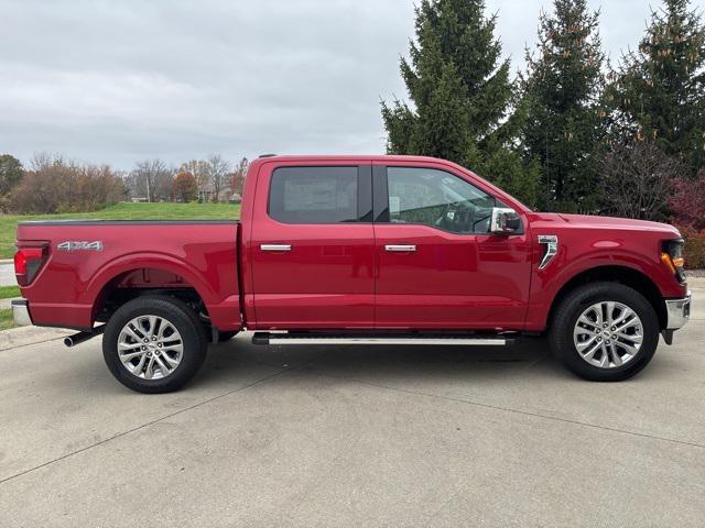
<svg viewBox="0 0 705 528">
<path fill-rule="evenodd" d="M 547 334 L 579 376 L 643 369 L 690 315 L 671 226 L 534 212 L 416 156 L 263 156 L 240 221 L 18 227 L 15 321 L 100 333 L 126 386 L 174 391 L 208 342 L 495 345 Z"/>
</svg>

